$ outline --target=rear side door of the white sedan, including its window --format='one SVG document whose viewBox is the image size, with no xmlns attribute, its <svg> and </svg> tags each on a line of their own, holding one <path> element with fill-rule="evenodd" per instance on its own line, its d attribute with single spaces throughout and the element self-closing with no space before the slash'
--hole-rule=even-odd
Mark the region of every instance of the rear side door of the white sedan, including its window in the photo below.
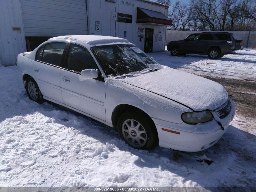
<svg viewBox="0 0 256 192">
<path fill-rule="evenodd" d="M 60 74 L 63 51 L 67 43 L 50 42 L 36 53 L 34 75 L 43 96 L 63 103 Z"/>
</svg>

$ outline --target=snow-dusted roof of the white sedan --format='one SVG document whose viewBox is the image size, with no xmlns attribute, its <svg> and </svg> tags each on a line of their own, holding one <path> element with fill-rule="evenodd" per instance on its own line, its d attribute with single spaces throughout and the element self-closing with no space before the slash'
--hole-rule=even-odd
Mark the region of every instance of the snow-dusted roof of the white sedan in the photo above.
<svg viewBox="0 0 256 192">
<path fill-rule="evenodd" d="M 102 36 L 102 35 L 66 35 L 66 36 L 52 37 L 49 40 L 53 40 L 53 39 L 69 39 L 69 40 L 75 40 L 75 41 L 87 43 L 89 45 L 129 43 L 126 39 L 122 39 L 119 37 Z"/>
</svg>

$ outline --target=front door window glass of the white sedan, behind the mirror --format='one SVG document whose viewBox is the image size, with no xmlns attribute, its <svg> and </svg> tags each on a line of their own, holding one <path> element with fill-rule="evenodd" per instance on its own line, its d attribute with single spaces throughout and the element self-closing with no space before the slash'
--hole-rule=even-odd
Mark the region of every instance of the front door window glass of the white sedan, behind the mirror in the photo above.
<svg viewBox="0 0 256 192">
<path fill-rule="evenodd" d="M 81 72 L 84 69 L 97 69 L 97 65 L 87 49 L 70 44 L 67 57 L 67 69 Z"/>
</svg>

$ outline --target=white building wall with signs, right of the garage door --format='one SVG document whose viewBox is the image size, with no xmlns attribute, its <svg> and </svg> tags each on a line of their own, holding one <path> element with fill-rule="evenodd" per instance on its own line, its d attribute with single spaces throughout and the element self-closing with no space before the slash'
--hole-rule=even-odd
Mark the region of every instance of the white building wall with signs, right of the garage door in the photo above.
<svg viewBox="0 0 256 192">
<path fill-rule="evenodd" d="M 161 32 L 163 41 L 153 42 L 153 52 L 165 50 L 165 32 L 166 27 L 157 25 L 144 25 L 136 23 L 137 7 L 145 8 L 167 15 L 167 8 L 152 5 L 144 1 L 126 0 L 134 3 L 134 6 L 121 4 L 121 0 L 116 0 L 116 3 L 107 2 L 105 0 L 87 0 L 88 7 L 88 29 L 89 35 L 106 35 L 115 36 L 127 39 L 134 43 L 141 50 L 144 50 L 144 42 L 139 41 L 138 27 L 154 29 L 154 33 Z M 112 21 L 112 12 L 119 12 L 132 15 L 132 23 L 122 23 Z M 101 22 L 101 31 L 95 31 L 95 21 Z M 127 31 L 127 36 L 124 37 L 124 31 Z"/>
</svg>

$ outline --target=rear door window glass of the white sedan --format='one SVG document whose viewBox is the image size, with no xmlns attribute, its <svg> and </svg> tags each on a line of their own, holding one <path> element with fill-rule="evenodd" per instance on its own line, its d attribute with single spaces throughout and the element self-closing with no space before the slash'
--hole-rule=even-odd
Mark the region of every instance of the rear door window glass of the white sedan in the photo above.
<svg viewBox="0 0 256 192">
<path fill-rule="evenodd" d="M 62 53 L 66 43 L 52 42 L 45 45 L 42 56 L 42 62 L 46 62 L 55 66 L 61 66 Z"/>
</svg>

